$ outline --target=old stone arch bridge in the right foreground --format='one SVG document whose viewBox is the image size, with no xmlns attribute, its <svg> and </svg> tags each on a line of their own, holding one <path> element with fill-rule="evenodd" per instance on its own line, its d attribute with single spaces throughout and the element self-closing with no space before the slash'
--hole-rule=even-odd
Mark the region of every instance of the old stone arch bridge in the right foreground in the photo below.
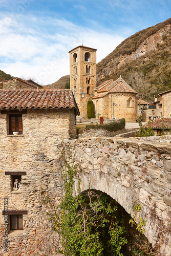
<svg viewBox="0 0 171 256">
<path fill-rule="evenodd" d="M 81 191 L 101 190 L 136 221 L 146 221 L 145 236 L 158 255 L 171 255 L 171 136 L 65 140 L 79 163 Z M 75 182 L 75 193 L 78 184 Z"/>
</svg>

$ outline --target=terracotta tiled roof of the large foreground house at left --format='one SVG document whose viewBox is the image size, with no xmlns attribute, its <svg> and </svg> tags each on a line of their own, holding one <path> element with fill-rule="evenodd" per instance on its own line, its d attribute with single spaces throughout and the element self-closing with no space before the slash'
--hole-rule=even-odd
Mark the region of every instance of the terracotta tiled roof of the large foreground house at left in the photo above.
<svg viewBox="0 0 171 256">
<path fill-rule="evenodd" d="M 71 90 L 1 89 L 0 109 L 79 109 Z"/>
</svg>

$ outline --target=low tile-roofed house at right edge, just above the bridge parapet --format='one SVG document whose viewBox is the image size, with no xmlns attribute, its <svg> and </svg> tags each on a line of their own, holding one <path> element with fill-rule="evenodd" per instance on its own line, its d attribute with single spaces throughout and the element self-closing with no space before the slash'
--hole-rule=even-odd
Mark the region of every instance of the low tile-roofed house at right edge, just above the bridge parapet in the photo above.
<svg viewBox="0 0 171 256">
<path fill-rule="evenodd" d="M 164 129 L 164 133 L 166 135 L 170 135 L 170 127 L 171 127 L 171 118 L 170 117 L 164 117 L 164 118 L 159 118 L 156 119 L 150 123 L 146 123 L 143 125 L 144 128 L 148 128 L 149 125 L 154 130 L 155 135 L 161 135 L 163 132 L 162 130 Z"/>
</svg>

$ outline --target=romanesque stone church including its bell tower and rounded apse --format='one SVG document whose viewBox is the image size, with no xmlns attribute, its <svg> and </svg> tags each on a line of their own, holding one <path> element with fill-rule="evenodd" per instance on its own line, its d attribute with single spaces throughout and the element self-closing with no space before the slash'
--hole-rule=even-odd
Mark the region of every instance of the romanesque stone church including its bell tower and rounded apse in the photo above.
<svg viewBox="0 0 171 256">
<path fill-rule="evenodd" d="M 87 119 L 87 103 L 92 100 L 96 118 L 125 118 L 126 122 L 136 122 L 137 92 L 121 77 L 116 81 L 96 82 L 96 51 L 78 46 L 70 53 L 70 88 L 75 96 L 80 115 Z"/>
</svg>

